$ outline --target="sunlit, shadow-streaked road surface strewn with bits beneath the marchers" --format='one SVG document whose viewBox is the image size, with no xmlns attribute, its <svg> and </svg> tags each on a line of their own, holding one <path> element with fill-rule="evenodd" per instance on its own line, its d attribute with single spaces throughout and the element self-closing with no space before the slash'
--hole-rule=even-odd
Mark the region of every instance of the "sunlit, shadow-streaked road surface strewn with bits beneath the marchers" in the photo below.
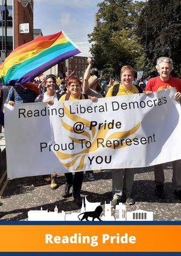
<svg viewBox="0 0 181 256">
<path fill-rule="evenodd" d="M 1 149 L 5 148 L 4 133 L 0 134 Z M 153 167 L 136 168 L 135 183 L 133 185 L 133 196 L 135 205 L 126 206 L 126 211 L 142 209 L 153 211 L 153 219 L 158 221 L 181 221 L 181 204 L 179 199 L 174 198 L 172 185 L 172 163 L 164 164 L 165 173 L 165 199 L 158 199 L 154 194 L 154 172 Z M 0 173 L 0 180 L 2 175 Z M 95 181 L 87 180 L 84 175 L 81 196 L 87 195 L 89 202 L 109 203 L 112 199 L 112 179 L 111 171 L 95 171 Z M 5 174 L 4 174 L 5 176 Z M 28 220 L 28 211 L 43 210 L 54 211 L 55 206 L 66 213 L 77 212 L 77 206 L 72 197 L 63 199 L 64 175 L 59 174 L 57 183 L 59 187 L 51 190 L 50 185 L 44 182 L 42 176 L 25 177 L 7 181 L 4 191 L 1 192 L 0 199 L 0 220 Z M 0 182 L 1 183 L 1 182 Z M 1 189 L 1 185 L 0 185 Z M 115 215 L 115 209 L 112 209 Z"/>
</svg>

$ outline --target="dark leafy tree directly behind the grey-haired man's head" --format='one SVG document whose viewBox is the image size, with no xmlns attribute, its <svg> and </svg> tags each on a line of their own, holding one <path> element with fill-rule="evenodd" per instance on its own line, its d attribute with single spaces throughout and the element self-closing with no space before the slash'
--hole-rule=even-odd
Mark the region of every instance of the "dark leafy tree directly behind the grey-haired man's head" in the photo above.
<svg viewBox="0 0 181 256">
<path fill-rule="evenodd" d="M 181 76 L 181 1 L 148 0 L 138 21 L 136 34 L 145 49 L 146 64 L 155 76 L 156 59 L 171 57 L 174 74 Z"/>
</svg>

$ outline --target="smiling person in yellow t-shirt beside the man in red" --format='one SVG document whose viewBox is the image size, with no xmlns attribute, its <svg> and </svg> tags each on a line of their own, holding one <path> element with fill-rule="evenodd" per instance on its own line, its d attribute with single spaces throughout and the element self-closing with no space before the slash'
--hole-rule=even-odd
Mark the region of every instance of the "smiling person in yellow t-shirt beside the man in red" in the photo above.
<svg viewBox="0 0 181 256">
<path fill-rule="evenodd" d="M 121 84 L 110 87 L 106 97 L 142 93 L 140 88 L 133 85 L 135 73 L 132 67 L 126 65 L 121 68 Z M 132 197 L 135 169 L 112 169 L 112 208 L 123 199 L 127 205 L 133 205 L 135 199 Z"/>
</svg>

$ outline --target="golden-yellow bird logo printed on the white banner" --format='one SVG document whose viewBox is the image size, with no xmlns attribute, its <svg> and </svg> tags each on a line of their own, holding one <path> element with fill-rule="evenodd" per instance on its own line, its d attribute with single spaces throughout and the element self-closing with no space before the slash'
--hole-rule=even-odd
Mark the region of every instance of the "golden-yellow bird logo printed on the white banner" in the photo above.
<svg viewBox="0 0 181 256">
<path fill-rule="evenodd" d="M 65 116 L 68 117 L 72 122 L 83 123 L 84 127 L 87 127 L 87 130 L 89 129 L 90 127 L 89 120 L 76 116 L 75 114 L 71 114 L 68 108 L 66 108 L 64 103 L 63 103 L 63 108 L 65 110 Z M 71 139 L 75 144 L 76 143 L 86 144 L 87 142 L 91 143 L 91 146 L 89 148 L 85 148 L 82 151 L 79 151 L 78 153 L 68 154 L 68 153 L 63 153 L 62 151 L 57 151 L 57 156 L 59 157 L 60 160 L 62 160 L 61 163 L 63 166 L 65 166 L 65 168 L 70 168 L 74 166 L 76 163 L 76 167 L 74 168 L 74 171 L 80 171 L 81 169 L 83 169 L 84 159 L 86 157 L 86 154 L 93 153 L 94 151 L 97 151 L 98 148 L 100 148 L 97 146 L 97 139 L 101 137 L 101 139 L 104 140 L 107 136 L 109 128 L 107 128 L 107 126 L 106 128 L 104 126 L 101 126 L 100 130 L 97 131 L 95 127 L 92 127 L 90 132 L 83 131 L 82 133 L 77 134 L 74 131 L 74 126 L 69 125 L 63 119 L 61 119 L 61 123 L 63 128 L 65 128 L 65 130 L 80 136 L 80 139 L 77 139 L 72 136 L 68 136 L 69 139 Z M 131 136 L 132 134 L 134 134 L 139 129 L 140 126 L 141 126 L 141 122 L 137 123 L 131 130 L 114 132 L 109 137 L 107 137 L 107 140 L 124 139 L 127 136 Z M 133 139 L 135 139 L 135 137 L 133 137 Z M 127 145 L 125 142 L 123 142 L 119 146 L 117 146 L 116 149 L 121 149 L 121 148 L 124 148 L 125 146 Z M 115 149 L 114 145 L 109 146 L 109 148 Z M 77 163 L 78 163 L 78 166 L 77 166 Z"/>
</svg>

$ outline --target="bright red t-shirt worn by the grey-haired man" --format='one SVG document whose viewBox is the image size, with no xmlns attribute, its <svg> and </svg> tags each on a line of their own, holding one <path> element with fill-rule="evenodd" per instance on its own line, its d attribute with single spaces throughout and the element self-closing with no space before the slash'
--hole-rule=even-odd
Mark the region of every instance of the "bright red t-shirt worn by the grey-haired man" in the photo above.
<svg viewBox="0 0 181 256">
<path fill-rule="evenodd" d="M 157 76 L 148 80 L 145 91 L 162 91 L 172 87 L 181 93 L 181 80 L 177 77 L 170 77 L 167 82 L 164 82 Z"/>
</svg>

